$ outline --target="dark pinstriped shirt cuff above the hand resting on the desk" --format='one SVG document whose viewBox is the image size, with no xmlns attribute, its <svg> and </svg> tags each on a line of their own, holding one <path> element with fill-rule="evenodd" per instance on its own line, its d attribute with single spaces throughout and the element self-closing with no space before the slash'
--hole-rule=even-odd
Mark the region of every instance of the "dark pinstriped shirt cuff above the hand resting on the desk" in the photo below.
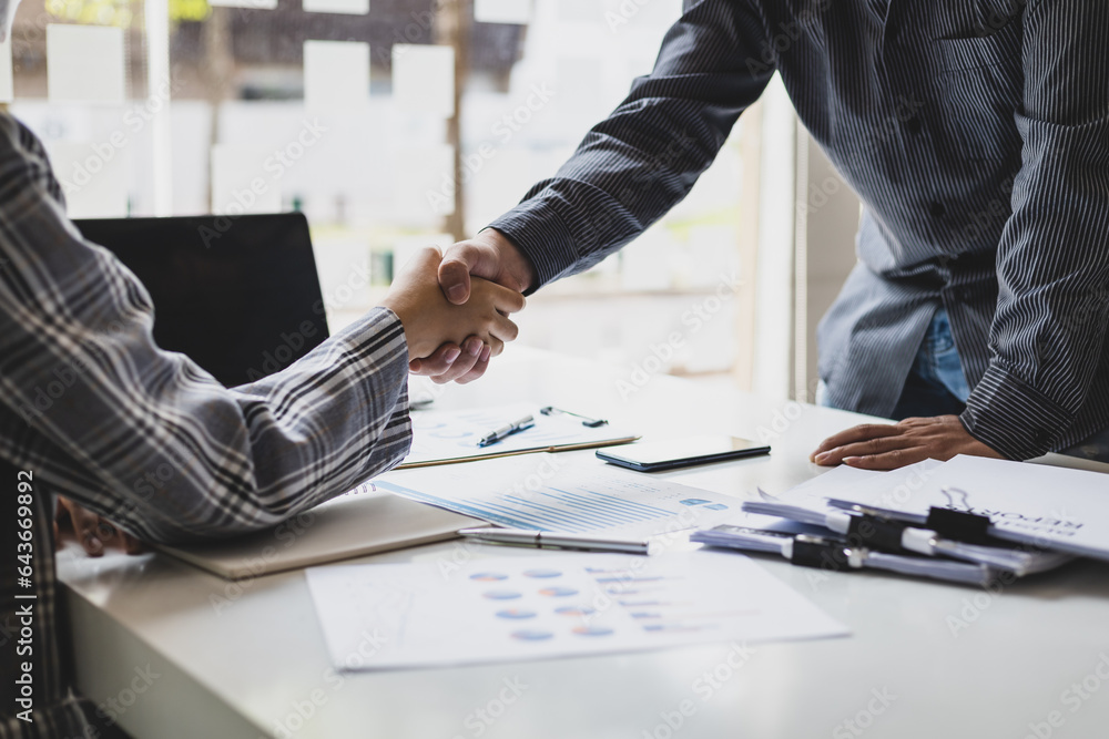
<svg viewBox="0 0 1109 739">
<path fill-rule="evenodd" d="M 1051 451 L 1074 415 L 991 362 L 960 417 L 971 437 L 1013 460 Z"/>
</svg>

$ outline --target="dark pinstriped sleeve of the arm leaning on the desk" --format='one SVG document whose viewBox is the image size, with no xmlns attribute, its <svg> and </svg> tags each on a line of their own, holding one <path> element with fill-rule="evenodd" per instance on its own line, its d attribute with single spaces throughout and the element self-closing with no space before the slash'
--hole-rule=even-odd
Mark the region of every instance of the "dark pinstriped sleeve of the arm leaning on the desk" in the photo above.
<svg viewBox="0 0 1109 739">
<path fill-rule="evenodd" d="M 1090 394 L 1105 392 L 1107 38 L 1105 2 L 1044 0 L 1025 11 L 1024 164 L 998 245 L 991 360 L 963 414 L 974 437 L 1013 459 L 1056 448 Z"/>
</svg>

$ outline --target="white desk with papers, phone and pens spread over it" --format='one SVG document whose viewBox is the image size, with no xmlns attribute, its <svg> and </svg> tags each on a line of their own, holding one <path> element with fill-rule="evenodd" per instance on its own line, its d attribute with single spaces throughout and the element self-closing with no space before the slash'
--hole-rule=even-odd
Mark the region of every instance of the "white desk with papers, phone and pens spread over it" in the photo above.
<svg viewBox="0 0 1109 739">
<path fill-rule="evenodd" d="M 780 492 L 818 474 L 808 452 L 861 419 L 721 397 L 669 377 L 652 378 L 624 401 L 617 380 L 629 372 L 510 349 L 482 381 L 450 387 L 438 404 L 536 400 L 658 435 L 757 438 L 760 427 L 776 429 L 769 458 L 668 473 L 735 495 L 756 485 Z M 366 560 L 503 554 L 451 542 Z M 709 645 L 360 674 L 340 682 L 302 573 L 258 578 L 240 591 L 163 555 L 95 561 L 72 551 L 60 557 L 60 569 L 80 687 L 98 702 L 118 700 L 121 726 L 138 739 L 1106 736 L 1109 565 L 1077 563 L 989 594 L 759 562 L 854 635 L 756 646 L 740 669 L 729 666 L 731 646 Z M 213 598 L 232 603 L 217 613 Z M 157 675 L 152 680 L 136 673 L 147 665 Z M 680 712 L 683 701 L 689 716 Z M 681 726 L 671 728 L 668 718 Z"/>
</svg>

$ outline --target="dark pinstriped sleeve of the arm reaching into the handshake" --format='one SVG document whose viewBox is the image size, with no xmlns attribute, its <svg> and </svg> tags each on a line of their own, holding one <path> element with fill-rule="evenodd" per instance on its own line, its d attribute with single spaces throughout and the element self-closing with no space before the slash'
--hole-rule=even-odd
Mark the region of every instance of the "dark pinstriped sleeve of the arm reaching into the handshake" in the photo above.
<svg viewBox="0 0 1109 739">
<path fill-rule="evenodd" d="M 532 289 L 589 269 L 685 197 L 770 81 L 764 24 L 753 3 L 686 0 L 654 71 L 554 177 L 489 224 L 531 260 Z"/>
</svg>

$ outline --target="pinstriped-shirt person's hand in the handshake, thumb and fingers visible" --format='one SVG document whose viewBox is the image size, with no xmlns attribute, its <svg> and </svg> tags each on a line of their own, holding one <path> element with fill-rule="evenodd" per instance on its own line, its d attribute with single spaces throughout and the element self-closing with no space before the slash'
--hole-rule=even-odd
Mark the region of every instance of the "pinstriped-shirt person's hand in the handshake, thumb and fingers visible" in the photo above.
<svg viewBox="0 0 1109 739">
<path fill-rule="evenodd" d="M 517 292 L 536 281 L 536 270 L 528 258 L 500 232 L 487 228 L 474 238 L 447 249 L 439 265 L 439 287 L 447 299 L 461 305 L 470 298 L 470 275 L 484 277 Z M 423 359 L 414 359 L 408 369 L 430 376 L 437 383 L 455 380 L 471 382 L 489 367 L 491 348 L 476 337 L 461 343 L 445 343 Z"/>
</svg>

